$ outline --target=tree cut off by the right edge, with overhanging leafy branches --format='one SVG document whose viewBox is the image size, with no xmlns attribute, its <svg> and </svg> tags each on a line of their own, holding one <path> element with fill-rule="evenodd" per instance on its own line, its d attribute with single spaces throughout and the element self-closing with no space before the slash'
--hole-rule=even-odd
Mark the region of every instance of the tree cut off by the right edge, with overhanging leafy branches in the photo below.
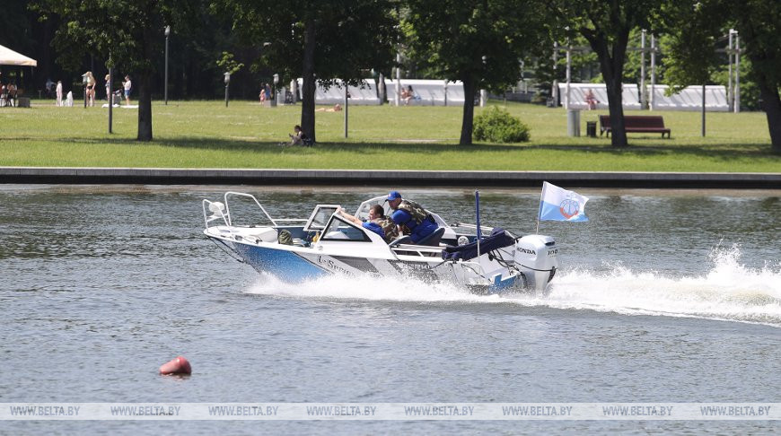
<svg viewBox="0 0 781 436">
<path fill-rule="evenodd" d="M 781 2 L 689 0 L 668 11 L 666 27 L 679 42 L 673 44 L 670 55 L 676 66 L 671 78 L 678 84 L 695 83 L 697 74 L 712 70 L 714 39 L 730 28 L 738 31 L 743 52 L 750 59 L 750 79 L 759 88 L 768 119 L 772 150 L 781 153 Z"/>
</svg>

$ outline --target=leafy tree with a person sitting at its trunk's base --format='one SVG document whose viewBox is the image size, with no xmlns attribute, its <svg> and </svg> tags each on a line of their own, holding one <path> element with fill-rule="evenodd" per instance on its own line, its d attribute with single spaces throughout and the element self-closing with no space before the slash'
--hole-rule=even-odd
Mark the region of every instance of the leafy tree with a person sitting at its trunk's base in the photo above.
<svg viewBox="0 0 781 436">
<path fill-rule="evenodd" d="M 314 93 L 342 79 L 359 85 L 371 69 L 390 69 L 397 43 L 392 0 L 224 0 L 246 44 L 261 50 L 252 68 L 273 68 L 283 82 L 303 78 L 301 126 L 316 139 Z"/>
</svg>

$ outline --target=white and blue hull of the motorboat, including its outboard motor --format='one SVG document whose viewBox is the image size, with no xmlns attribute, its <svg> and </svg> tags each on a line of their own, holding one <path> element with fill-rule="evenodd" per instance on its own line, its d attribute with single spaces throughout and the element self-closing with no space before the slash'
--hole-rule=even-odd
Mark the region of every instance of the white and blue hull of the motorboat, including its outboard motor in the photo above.
<svg viewBox="0 0 781 436">
<path fill-rule="evenodd" d="M 226 203 L 227 198 L 226 194 Z M 448 226 L 445 233 L 447 238 L 443 239 L 445 243 L 440 246 L 389 246 L 378 235 L 361 226 L 335 222 L 338 217 L 333 214 L 329 216 L 328 225 L 323 227 L 323 237 L 318 238 L 320 231 L 308 228 L 312 225 L 312 219 L 305 226 L 241 227 L 233 225 L 230 216 L 225 213 L 218 216 L 224 218 L 224 225 L 209 225 L 210 218 L 215 220 L 215 215 L 206 216 L 206 204 L 212 203 L 205 200 L 204 233 L 209 239 L 257 271 L 274 275 L 289 283 L 317 280 L 328 275 L 370 275 L 414 277 L 427 282 L 453 283 L 480 293 L 547 294 L 548 283 L 557 269 L 555 241 L 547 236 L 531 235 L 509 239 L 512 245 L 478 251 L 477 256 L 465 257 L 467 260 L 444 259 L 443 249 L 446 245 L 457 245 L 456 240 L 459 237 L 475 240 L 475 236 L 464 236 L 456 232 L 459 229 Z M 317 213 L 318 208 L 312 216 Z M 447 224 L 441 222 L 440 225 Z M 348 236 L 339 235 L 338 231 L 329 229 L 344 231 Z M 280 243 L 279 234 L 283 231 L 296 236 L 293 243 Z M 484 245 L 487 246 L 488 244 Z"/>
</svg>

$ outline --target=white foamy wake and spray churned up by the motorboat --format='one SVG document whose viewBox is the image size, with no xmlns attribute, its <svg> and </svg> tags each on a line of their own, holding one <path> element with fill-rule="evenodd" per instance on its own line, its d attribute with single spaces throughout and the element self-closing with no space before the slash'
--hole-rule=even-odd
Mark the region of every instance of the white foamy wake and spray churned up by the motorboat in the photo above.
<svg viewBox="0 0 781 436">
<path fill-rule="evenodd" d="M 331 276 L 289 284 L 263 275 L 247 292 L 303 299 L 517 304 L 621 315 L 707 318 L 781 327 L 781 264 L 758 268 L 740 263 L 741 250 L 714 249 L 705 275 L 672 277 L 612 266 L 610 273 L 574 270 L 557 275 L 548 297 L 533 294 L 475 295 L 449 283 L 388 278 L 346 280 Z"/>
</svg>

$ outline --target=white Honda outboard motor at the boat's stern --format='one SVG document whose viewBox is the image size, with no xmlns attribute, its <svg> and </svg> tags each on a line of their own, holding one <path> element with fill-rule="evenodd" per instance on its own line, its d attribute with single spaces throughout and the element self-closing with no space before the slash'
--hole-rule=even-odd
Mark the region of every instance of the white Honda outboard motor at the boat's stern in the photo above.
<svg viewBox="0 0 781 436">
<path fill-rule="evenodd" d="M 527 235 L 515 242 L 515 267 L 526 276 L 529 289 L 548 295 L 548 282 L 558 268 L 556 240 L 550 236 Z"/>
</svg>

